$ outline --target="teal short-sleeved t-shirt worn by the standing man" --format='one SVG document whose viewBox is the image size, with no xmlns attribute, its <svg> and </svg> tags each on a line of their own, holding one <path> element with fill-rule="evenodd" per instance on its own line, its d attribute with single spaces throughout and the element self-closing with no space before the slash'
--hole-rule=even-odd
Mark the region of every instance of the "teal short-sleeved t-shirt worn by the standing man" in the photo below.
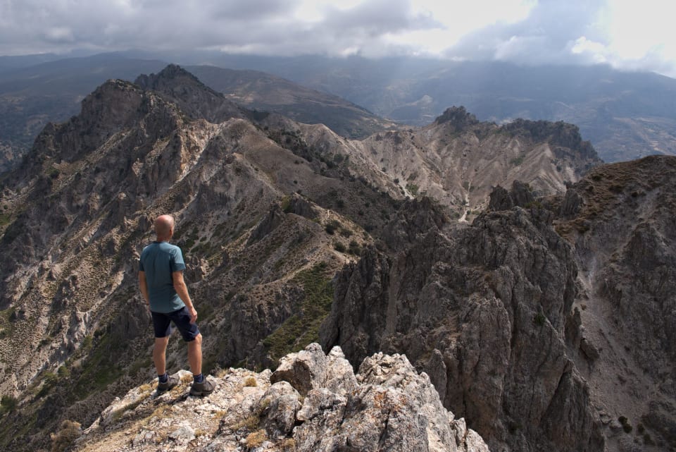
<svg viewBox="0 0 676 452">
<path fill-rule="evenodd" d="M 185 306 L 174 289 L 171 275 L 173 271 L 184 269 L 183 253 L 176 245 L 153 242 L 143 249 L 139 270 L 146 273 L 151 311 L 168 313 Z"/>
</svg>

